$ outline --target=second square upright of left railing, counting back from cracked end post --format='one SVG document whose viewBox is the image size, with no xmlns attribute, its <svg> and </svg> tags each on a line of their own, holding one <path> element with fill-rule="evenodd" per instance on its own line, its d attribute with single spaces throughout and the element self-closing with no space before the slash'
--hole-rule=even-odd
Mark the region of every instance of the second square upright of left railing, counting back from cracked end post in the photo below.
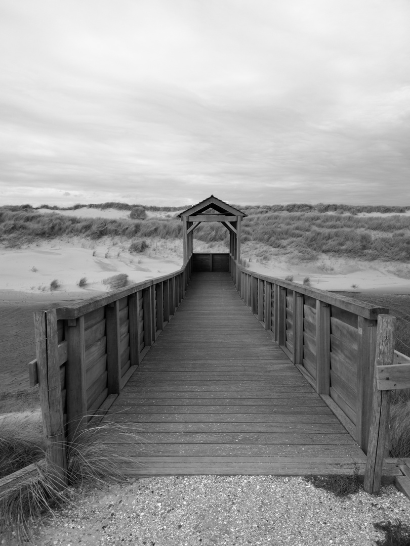
<svg viewBox="0 0 410 546">
<path fill-rule="evenodd" d="M 121 392 L 121 351 L 119 300 L 106 305 L 108 394 Z"/>
</svg>

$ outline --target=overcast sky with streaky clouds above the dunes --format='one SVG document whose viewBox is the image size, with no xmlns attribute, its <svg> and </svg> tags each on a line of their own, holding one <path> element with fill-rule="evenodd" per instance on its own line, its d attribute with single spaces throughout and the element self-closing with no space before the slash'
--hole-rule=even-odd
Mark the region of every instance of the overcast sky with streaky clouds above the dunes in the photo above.
<svg viewBox="0 0 410 546">
<path fill-rule="evenodd" d="M 409 0 L 0 0 L 0 204 L 410 205 Z"/>
</svg>

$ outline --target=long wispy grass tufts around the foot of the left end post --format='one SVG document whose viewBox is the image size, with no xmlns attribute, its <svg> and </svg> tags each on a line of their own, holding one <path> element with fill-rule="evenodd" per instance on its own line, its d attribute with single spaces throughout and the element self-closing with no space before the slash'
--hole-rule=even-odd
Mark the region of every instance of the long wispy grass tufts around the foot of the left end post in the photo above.
<svg viewBox="0 0 410 546">
<path fill-rule="evenodd" d="M 86 422 L 87 417 L 84 417 Z M 38 462 L 36 472 L 26 483 L 0 499 L 2 536 L 14 536 L 21 544 L 29 542 L 32 526 L 41 523 L 44 515 L 54 514 L 58 506 L 75 504 L 73 488 L 90 485 L 103 489 L 110 483 L 124 483 L 128 481 L 125 465 L 128 468 L 140 466 L 136 459 L 126 454 L 129 445 L 140 441 L 134 425 L 107 420 L 89 424 L 86 428 L 82 425 L 80 423 L 75 432 L 73 442 L 66 446 L 68 486 L 58 486 L 45 465 Z M 119 437 L 121 442 L 115 442 Z M 44 452 L 42 456 L 44 458 Z"/>
</svg>

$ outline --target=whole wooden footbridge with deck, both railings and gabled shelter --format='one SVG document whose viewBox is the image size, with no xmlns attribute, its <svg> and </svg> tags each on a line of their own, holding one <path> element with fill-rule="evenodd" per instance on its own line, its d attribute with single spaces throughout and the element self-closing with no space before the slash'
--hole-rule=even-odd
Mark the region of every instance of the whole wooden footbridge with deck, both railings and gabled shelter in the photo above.
<svg viewBox="0 0 410 546">
<path fill-rule="evenodd" d="M 109 411 L 139 427 L 139 476 L 358 465 L 367 491 L 410 492 L 405 461 L 383 459 L 390 391 L 410 387 L 388 310 L 244 269 L 243 216 L 211 196 L 181 213 L 179 271 L 35 314 L 31 384 L 61 483 L 67 444 Z M 206 221 L 229 229 L 229 253 L 192 253 Z"/>
</svg>

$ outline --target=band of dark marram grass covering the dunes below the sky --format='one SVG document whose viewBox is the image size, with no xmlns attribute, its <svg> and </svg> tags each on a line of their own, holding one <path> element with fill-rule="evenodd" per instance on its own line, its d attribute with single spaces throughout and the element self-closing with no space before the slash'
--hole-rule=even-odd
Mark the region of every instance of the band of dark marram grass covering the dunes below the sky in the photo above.
<svg viewBox="0 0 410 546">
<path fill-rule="evenodd" d="M 99 209 L 114 203 L 90 205 Z M 117 204 L 131 210 L 137 206 Z M 294 253 L 303 260 L 317 259 L 320 254 L 385 262 L 408 262 L 410 259 L 410 217 L 355 216 L 363 211 L 404 212 L 410 207 L 353 207 L 347 205 L 273 205 L 242 207 L 248 217 L 242 222 L 242 242 L 259 242 L 274 251 Z M 131 208 L 129 208 L 131 207 Z M 144 210 L 155 207 L 143 207 Z M 157 207 L 161 208 L 161 207 Z M 342 211 L 343 214 L 329 211 Z M 56 209 L 57 210 L 57 209 Z M 91 240 L 104 236 L 126 239 L 159 237 L 181 238 L 179 218 L 105 219 L 77 218 L 56 214 L 43 215 L 27 207 L 0 209 L 0 243 L 18 247 L 41 239 L 58 236 L 81 236 Z M 229 244 L 229 233 L 220 223 L 203 222 L 195 230 L 196 239 Z"/>
</svg>

